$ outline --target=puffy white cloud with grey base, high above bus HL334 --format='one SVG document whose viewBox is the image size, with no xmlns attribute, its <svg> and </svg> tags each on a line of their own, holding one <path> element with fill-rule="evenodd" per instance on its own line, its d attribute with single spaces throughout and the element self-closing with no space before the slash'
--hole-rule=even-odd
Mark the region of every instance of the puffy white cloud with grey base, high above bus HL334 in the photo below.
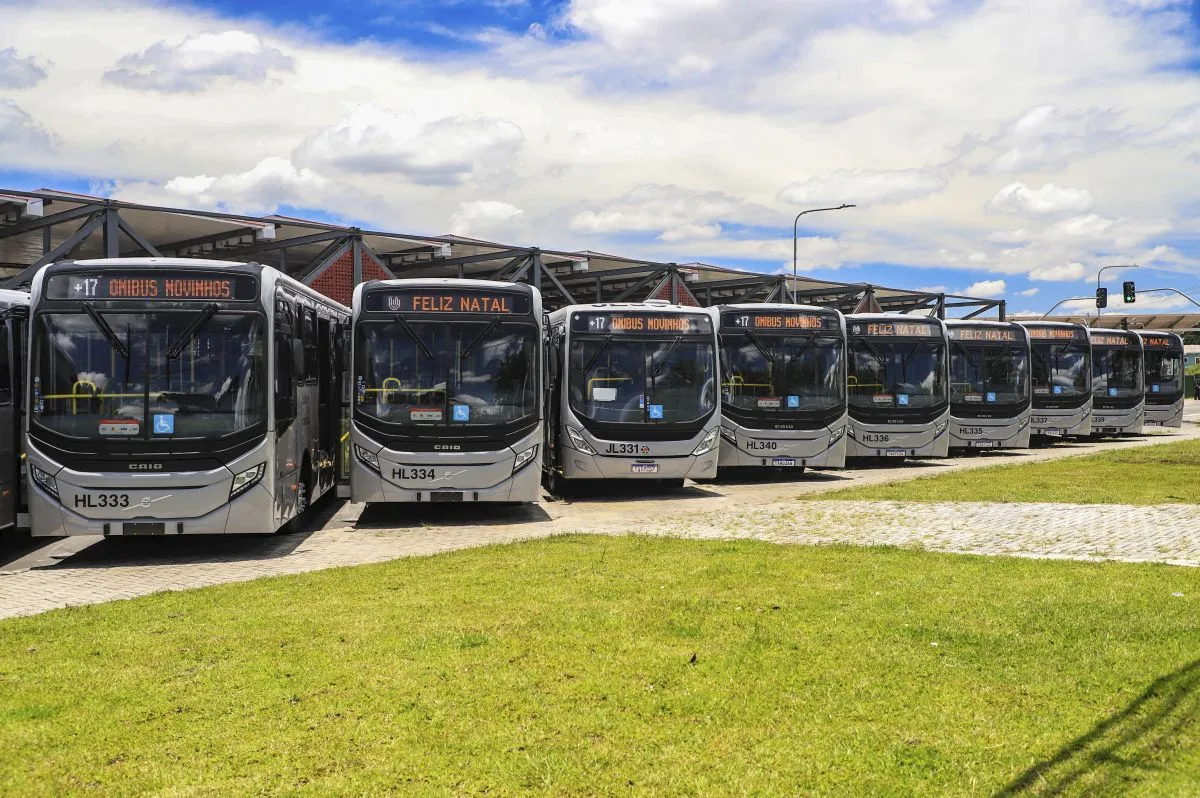
<svg viewBox="0 0 1200 798">
<path fill-rule="evenodd" d="M 298 160 L 344 172 L 400 173 L 414 182 L 461 184 L 512 157 L 524 140 L 510 121 L 450 116 L 421 122 L 371 104 L 312 136 Z"/>
</svg>

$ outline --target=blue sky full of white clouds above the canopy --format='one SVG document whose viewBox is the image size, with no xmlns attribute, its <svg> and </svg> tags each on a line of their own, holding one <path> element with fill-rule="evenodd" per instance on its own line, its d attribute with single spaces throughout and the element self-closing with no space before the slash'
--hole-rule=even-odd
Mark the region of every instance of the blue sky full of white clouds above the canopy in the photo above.
<svg viewBox="0 0 1200 798">
<path fill-rule="evenodd" d="M 1200 7 L 0 0 L 0 187 L 1184 310 Z"/>
</svg>

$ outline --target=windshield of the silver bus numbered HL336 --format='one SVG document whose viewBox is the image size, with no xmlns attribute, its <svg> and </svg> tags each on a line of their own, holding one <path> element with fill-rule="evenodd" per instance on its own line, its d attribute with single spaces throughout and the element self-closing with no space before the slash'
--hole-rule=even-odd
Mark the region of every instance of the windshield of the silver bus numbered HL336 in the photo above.
<svg viewBox="0 0 1200 798">
<path fill-rule="evenodd" d="M 851 407 L 930 409 L 946 402 L 946 344 L 856 338 L 850 354 Z"/>
</svg>

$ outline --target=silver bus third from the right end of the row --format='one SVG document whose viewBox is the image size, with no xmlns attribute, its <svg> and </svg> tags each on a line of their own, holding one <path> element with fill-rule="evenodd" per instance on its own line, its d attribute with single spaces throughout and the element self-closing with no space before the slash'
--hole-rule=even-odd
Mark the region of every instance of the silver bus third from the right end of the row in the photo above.
<svg viewBox="0 0 1200 798">
<path fill-rule="evenodd" d="M 1087 328 L 1067 322 L 1020 322 L 1030 334 L 1033 385 L 1031 438 L 1092 433 L 1092 347 Z"/>
</svg>

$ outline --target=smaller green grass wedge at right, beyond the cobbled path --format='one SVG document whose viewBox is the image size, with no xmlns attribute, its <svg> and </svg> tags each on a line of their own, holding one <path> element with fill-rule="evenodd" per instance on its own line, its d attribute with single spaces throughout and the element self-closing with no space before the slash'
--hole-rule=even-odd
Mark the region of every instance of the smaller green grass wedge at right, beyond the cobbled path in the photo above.
<svg viewBox="0 0 1200 798">
<path fill-rule="evenodd" d="M 848 487 L 802 500 L 1200 504 L 1200 440 Z"/>
</svg>

